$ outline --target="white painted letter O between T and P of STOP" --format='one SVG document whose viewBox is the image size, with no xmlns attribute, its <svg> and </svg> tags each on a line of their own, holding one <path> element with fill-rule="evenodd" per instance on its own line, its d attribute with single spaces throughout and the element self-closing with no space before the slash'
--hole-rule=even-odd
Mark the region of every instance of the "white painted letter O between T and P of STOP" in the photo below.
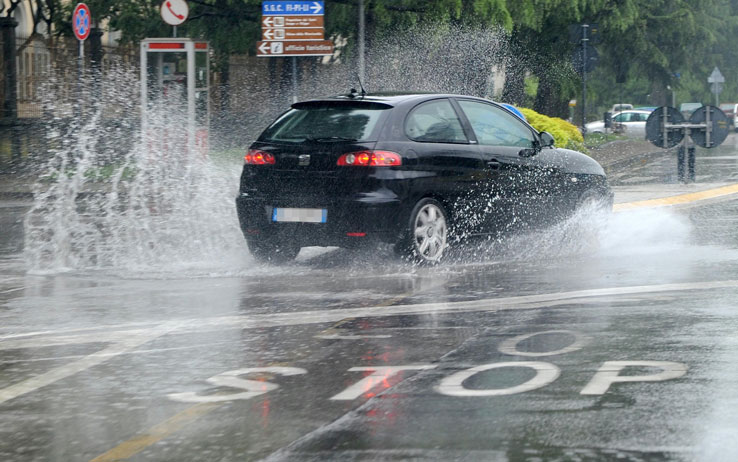
<svg viewBox="0 0 738 462">
<path fill-rule="evenodd" d="M 536 371 L 535 377 L 528 380 L 520 385 L 508 388 L 496 388 L 496 389 L 469 389 L 464 387 L 464 381 L 471 378 L 472 376 L 479 374 L 480 372 L 488 371 L 491 369 L 501 369 L 503 367 L 527 367 Z M 524 393 L 526 391 L 535 390 L 541 387 L 545 387 L 549 383 L 553 382 L 561 375 L 561 369 L 551 363 L 544 363 L 540 361 L 514 361 L 509 363 L 492 363 L 483 364 L 481 366 L 472 367 L 453 375 L 450 375 L 443 380 L 441 383 L 434 387 L 434 389 L 446 396 L 505 396 L 515 395 L 518 393 Z"/>
</svg>

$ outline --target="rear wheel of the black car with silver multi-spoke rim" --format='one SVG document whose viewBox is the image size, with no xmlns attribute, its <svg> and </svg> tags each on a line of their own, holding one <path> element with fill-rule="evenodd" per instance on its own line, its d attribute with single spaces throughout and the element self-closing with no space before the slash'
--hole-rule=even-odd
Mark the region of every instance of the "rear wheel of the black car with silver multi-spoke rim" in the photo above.
<svg viewBox="0 0 738 462">
<path fill-rule="evenodd" d="M 395 244 L 395 252 L 414 263 L 437 264 L 448 247 L 448 214 L 435 199 L 418 201 L 410 212 L 403 238 Z"/>
</svg>

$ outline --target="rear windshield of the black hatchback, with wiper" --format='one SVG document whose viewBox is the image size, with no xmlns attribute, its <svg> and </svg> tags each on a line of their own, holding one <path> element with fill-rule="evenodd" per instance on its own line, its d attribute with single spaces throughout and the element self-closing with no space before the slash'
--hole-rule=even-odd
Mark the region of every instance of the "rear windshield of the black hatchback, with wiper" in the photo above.
<svg viewBox="0 0 738 462">
<path fill-rule="evenodd" d="M 359 101 L 297 103 L 267 128 L 260 141 L 369 141 L 392 106 Z"/>
</svg>

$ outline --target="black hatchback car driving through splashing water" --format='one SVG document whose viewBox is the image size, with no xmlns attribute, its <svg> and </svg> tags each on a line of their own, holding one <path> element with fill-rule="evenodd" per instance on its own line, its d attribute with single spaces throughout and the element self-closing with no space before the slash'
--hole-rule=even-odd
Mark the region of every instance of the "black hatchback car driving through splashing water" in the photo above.
<svg viewBox="0 0 738 462">
<path fill-rule="evenodd" d="M 376 94 L 299 102 L 246 156 L 236 199 L 260 260 L 383 241 L 419 262 L 449 243 L 608 207 L 600 165 L 494 102 Z"/>
</svg>

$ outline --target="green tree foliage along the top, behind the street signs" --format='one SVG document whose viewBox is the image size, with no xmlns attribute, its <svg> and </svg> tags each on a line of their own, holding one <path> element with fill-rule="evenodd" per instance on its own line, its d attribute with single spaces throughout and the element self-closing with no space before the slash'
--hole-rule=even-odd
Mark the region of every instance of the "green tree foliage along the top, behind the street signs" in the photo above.
<svg viewBox="0 0 738 462">
<path fill-rule="evenodd" d="M 56 33 L 71 35 L 76 2 L 25 0 L 51 11 Z M 346 43 L 342 59 L 357 52 L 359 0 L 325 0 L 326 37 Z M 216 62 L 232 53 L 254 54 L 261 36 L 261 0 L 189 0 L 190 17 L 180 36 L 211 42 Z M 160 0 L 88 0 L 93 19 L 108 21 L 123 43 L 170 36 L 159 16 Z M 62 7 L 62 5 L 64 5 Z M 738 101 L 738 0 L 364 0 L 367 46 L 373 38 L 432 25 L 501 27 L 509 32 L 504 66 L 507 102 L 532 105 L 563 116 L 569 99 L 581 99 L 581 77 L 573 72 L 572 24 L 599 24 L 598 68 L 589 74 L 588 111 L 600 114 L 614 102 L 640 105 L 712 101 L 707 76 L 714 66 L 726 75 L 721 101 Z M 52 8 L 53 7 L 53 8 Z M 439 35 L 440 36 L 440 35 Z M 446 43 L 439 40 L 439 52 Z M 220 64 L 219 64 L 220 65 Z M 680 74 L 681 78 L 677 78 Z M 532 78 L 529 78 L 532 76 Z M 528 79 L 527 81 L 525 79 Z M 535 81 L 537 86 L 530 84 Z M 618 83 L 623 82 L 623 83 Z M 533 92 L 535 90 L 535 92 Z M 622 98 L 621 98 L 622 95 Z"/>
</svg>

